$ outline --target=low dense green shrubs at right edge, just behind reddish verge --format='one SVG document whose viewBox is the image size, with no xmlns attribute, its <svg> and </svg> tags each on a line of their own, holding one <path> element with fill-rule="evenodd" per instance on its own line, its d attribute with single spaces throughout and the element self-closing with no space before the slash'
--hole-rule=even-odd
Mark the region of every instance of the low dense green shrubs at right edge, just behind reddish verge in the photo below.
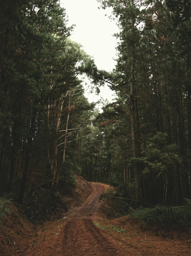
<svg viewBox="0 0 191 256">
<path fill-rule="evenodd" d="M 139 220 L 142 226 L 161 228 L 185 228 L 191 226 L 191 207 L 189 206 L 156 206 L 135 210 L 132 218 Z"/>
</svg>

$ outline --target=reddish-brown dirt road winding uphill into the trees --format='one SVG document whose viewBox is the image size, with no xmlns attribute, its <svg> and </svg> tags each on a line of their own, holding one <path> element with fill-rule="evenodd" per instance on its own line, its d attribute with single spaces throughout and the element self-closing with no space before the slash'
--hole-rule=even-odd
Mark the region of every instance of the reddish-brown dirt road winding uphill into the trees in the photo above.
<svg viewBox="0 0 191 256">
<path fill-rule="evenodd" d="M 34 241 L 35 246 L 25 255 L 117 256 L 120 254 L 120 250 L 113 245 L 112 239 L 104 232 L 105 230 L 96 227 L 93 223 L 99 195 L 105 188 L 96 183 L 92 183 L 92 186 L 93 193 L 88 202 L 70 217 L 54 223 L 45 223 L 43 229 L 38 231 L 37 241 Z"/>
</svg>

